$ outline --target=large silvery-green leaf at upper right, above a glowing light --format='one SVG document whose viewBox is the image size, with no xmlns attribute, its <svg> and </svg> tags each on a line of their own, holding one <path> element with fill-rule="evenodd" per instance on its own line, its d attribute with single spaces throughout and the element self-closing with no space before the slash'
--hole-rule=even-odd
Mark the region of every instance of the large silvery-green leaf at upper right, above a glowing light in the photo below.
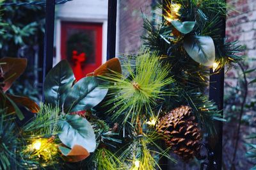
<svg viewBox="0 0 256 170">
<path fill-rule="evenodd" d="M 196 62 L 212 66 L 215 61 L 215 46 L 210 36 L 186 36 L 184 48 L 188 55 Z"/>
</svg>

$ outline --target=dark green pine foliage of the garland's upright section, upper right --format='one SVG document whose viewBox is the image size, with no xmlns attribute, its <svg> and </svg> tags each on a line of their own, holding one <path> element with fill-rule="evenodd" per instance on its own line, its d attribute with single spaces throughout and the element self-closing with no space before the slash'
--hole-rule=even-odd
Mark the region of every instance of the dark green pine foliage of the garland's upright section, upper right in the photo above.
<svg viewBox="0 0 256 170">
<path fill-rule="evenodd" d="M 173 7 L 173 4 L 180 5 Z M 223 19 L 225 19 L 226 9 L 229 7 L 222 0 L 176 0 L 172 3 L 166 1 L 166 6 L 167 10 L 163 8 L 162 4 L 158 6 L 165 13 L 163 16 L 159 16 L 162 17 L 161 22 L 152 25 L 152 21 L 144 17 L 144 28 L 147 30 L 147 35 L 143 36 L 144 45 L 152 52 L 157 50 L 162 56 L 161 61 L 172 66 L 169 75 L 175 80 L 174 86 L 180 89 L 175 91 L 175 96 L 166 97 L 164 104 L 161 105 L 168 105 L 163 108 L 165 112 L 179 107 L 180 104 L 189 105 L 200 126 L 209 134 L 214 134 L 213 120 L 223 121 L 223 119 L 218 116 L 219 111 L 214 102 L 209 101 L 204 94 L 205 88 L 209 86 L 210 68 L 194 61 L 184 49 L 184 42 L 189 36 L 212 38 L 215 46 L 215 62 L 218 63 L 214 73 L 218 73 L 218 70 L 225 65 L 243 59 L 237 55 L 241 51 L 241 47 L 237 46 L 236 42 L 227 42 L 227 38 L 223 37 L 223 28 L 225 27 Z M 176 13 L 173 12 L 175 7 L 179 9 Z M 179 20 L 183 23 L 195 22 L 195 27 L 190 33 L 183 34 L 181 32 L 188 27 L 175 27 L 172 20 Z"/>
</svg>

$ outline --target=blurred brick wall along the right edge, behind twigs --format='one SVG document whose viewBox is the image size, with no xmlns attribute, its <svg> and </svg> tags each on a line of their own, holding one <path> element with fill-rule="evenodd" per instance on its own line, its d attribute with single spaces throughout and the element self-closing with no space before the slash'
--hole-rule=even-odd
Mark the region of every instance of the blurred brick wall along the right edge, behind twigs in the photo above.
<svg viewBox="0 0 256 170">
<path fill-rule="evenodd" d="M 226 35 L 228 36 L 228 40 L 234 41 L 237 40 L 240 45 L 244 46 L 243 54 L 246 57 L 244 62 L 244 67 L 246 69 L 256 68 L 256 1 L 255 0 L 227 0 L 227 3 L 230 3 L 234 6 L 235 10 L 229 10 L 226 24 Z M 239 88 L 237 86 L 237 81 L 239 79 L 243 79 L 243 74 L 237 72 L 240 70 L 237 68 L 236 70 L 233 68 L 225 75 L 225 97 L 227 97 L 228 93 L 230 93 L 230 86 Z M 252 72 L 247 75 L 249 81 L 255 79 L 256 72 Z M 228 92 L 229 91 L 229 92 Z M 255 101 L 255 84 L 250 84 L 248 86 L 248 98 L 246 104 L 249 104 L 250 101 Z M 241 93 L 237 94 L 241 96 Z M 236 97 L 237 97 L 236 95 Z M 229 98 L 228 100 L 234 100 L 234 98 Z M 236 101 L 236 106 L 239 108 L 241 105 L 241 100 Z M 230 107 L 229 105 L 225 105 L 227 109 Z M 225 111 L 225 115 L 233 115 L 234 118 L 238 118 L 238 114 L 236 111 L 236 107 L 234 107 L 234 112 Z M 232 109 L 231 109 L 232 110 Z M 244 157 L 246 153 L 246 147 L 244 143 L 250 143 L 246 137 L 249 134 L 255 132 L 255 111 L 246 110 L 243 114 L 243 124 L 241 126 L 241 134 L 238 144 L 237 150 L 237 158 L 236 158 L 236 168 L 237 169 L 250 169 L 252 164 L 248 163 L 246 157 Z M 228 123 L 224 123 L 223 125 L 223 160 L 225 160 L 226 166 L 228 166 L 228 160 L 231 159 L 231 156 L 234 151 L 234 139 L 236 139 L 236 129 L 237 129 L 237 121 L 231 121 Z"/>
</svg>

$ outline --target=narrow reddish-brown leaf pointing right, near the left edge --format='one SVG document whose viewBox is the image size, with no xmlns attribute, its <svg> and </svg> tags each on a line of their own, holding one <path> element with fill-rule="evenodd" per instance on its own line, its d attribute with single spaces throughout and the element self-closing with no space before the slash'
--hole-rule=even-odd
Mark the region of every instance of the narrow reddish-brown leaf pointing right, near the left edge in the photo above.
<svg viewBox="0 0 256 170">
<path fill-rule="evenodd" d="M 20 97 L 14 95 L 7 95 L 15 104 L 26 107 L 29 111 L 36 113 L 40 110 L 40 107 L 28 97 Z"/>
</svg>

